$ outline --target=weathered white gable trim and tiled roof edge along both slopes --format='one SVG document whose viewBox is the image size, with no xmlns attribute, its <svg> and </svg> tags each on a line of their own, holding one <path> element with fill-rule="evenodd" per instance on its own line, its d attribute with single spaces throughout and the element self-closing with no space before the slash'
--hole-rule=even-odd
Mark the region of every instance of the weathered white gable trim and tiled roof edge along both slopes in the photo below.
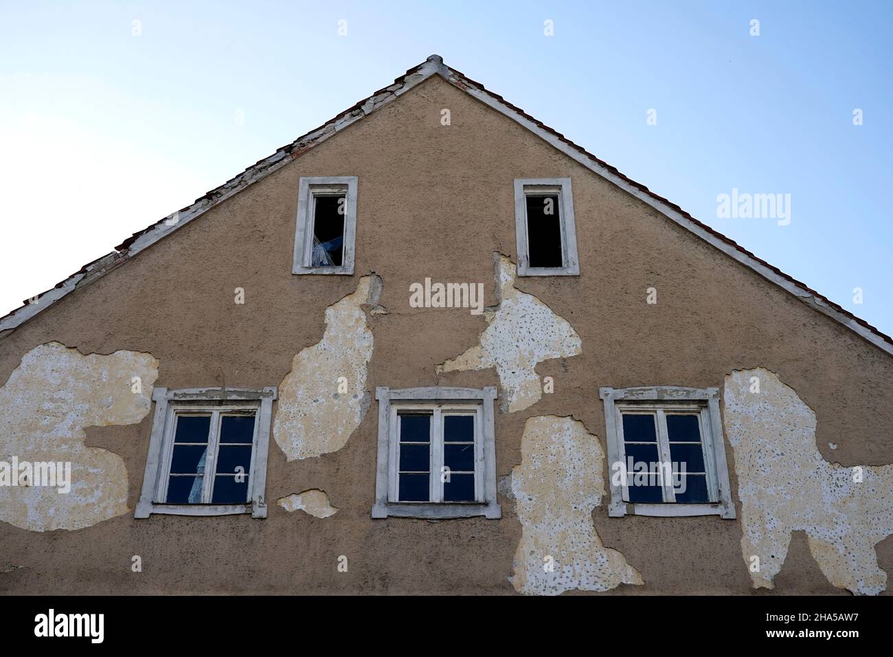
<svg viewBox="0 0 893 657">
<path fill-rule="evenodd" d="M 38 303 L 29 304 L 26 302 L 24 306 L 0 318 L 0 338 L 3 338 L 4 335 L 8 334 L 9 331 L 19 326 L 22 322 L 52 305 L 56 300 L 62 299 L 69 292 L 107 274 L 129 257 L 137 255 L 143 249 L 154 244 L 154 242 L 177 230 L 180 226 L 193 221 L 200 215 L 204 215 L 207 210 L 230 198 L 238 191 L 244 190 L 270 173 L 278 171 L 296 157 L 303 155 L 313 147 L 319 146 L 323 141 L 338 134 L 339 131 L 344 130 L 354 122 L 378 111 L 381 107 L 393 102 L 397 97 L 402 96 L 434 75 L 438 75 L 455 88 L 462 89 L 484 105 L 517 122 L 525 130 L 543 139 L 564 155 L 571 157 L 575 162 L 582 164 L 593 173 L 603 177 L 606 181 L 612 182 L 648 206 L 653 207 L 657 212 L 678 223 L 686 230 L 693 232 L 697 237 L 718 248 L 742 265 L 749 267 L 767 281 L 773 282 L 780 288 L 793 294 L 807 306 L 813 307 L 839 324 L 847 326 L 847 328 L 858 333 L 864 340 L 871 342 L 881 350 L 893 354 L 893 338 L 889 337 L 889 335 L 880 333 L 871 324 L 848 312 L 846 308 L 811 290 L 804 283 L 796 281 L 788 274 L 784 274 L 777 267 L 756 257 L 746 248 L 739 246 L 738 243 L 730 240 L 722 233 L 714 231 L 705 223 L 697 221 L 695 217 L 689 215 L 680 206 L 658 196 L 640 182 L 631 180 L 610 164 L 589 153 L 585 148 L 578 146 L 570 139 L 565 138 L 561 133 L 549 128 L 545 123 L 537 121 L 529 114 L 525 114 L 520 107 L 512 105 L 505 98 L 488 91 L 480 82 L 471 80 L 462 72 L 447 67 L 439 55 L 430 55 L 427 60 L 411 68 L 405 75 L 396 78 L 394 84 L 379 89 L 370 97 L 361 100 L 353 107 L 349 107 L 341 114 L 338 114 L 334 119 L 308 132 L 303 137 L 299 137 L 291 144 L 281 147 L 273 155 L 248 167 L 243 173 L 238 174 L 238 176 L 217 189 L 207 192 L 204 197 L 196 199 L 193 205 L 179 210 L 176 223 L 169 223 L 163 219 L 143 231 L 134 233 L 128 240 L 115 247 L 112 253 L 83 266 L 79 272 L 72 274 L 65 281 L 57 283 L 53 290 L 38 295 Z"/>
</svg>

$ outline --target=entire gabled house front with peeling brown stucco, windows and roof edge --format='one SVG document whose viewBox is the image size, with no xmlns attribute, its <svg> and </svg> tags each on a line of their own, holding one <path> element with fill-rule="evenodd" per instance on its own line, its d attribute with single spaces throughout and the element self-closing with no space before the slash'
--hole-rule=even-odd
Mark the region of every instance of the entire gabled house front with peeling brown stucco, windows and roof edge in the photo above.
<svg viewBox="0 0 893 657">
<path fill-rule="evenodd" d="M 882 594 L 891 356 L 432 55 L 0 320 L 0 591 Z"/>
</svg>

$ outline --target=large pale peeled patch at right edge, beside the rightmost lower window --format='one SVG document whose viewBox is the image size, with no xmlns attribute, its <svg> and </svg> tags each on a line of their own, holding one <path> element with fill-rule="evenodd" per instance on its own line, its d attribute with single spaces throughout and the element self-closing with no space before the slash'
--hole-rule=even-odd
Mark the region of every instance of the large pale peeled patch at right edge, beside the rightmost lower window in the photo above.
<svg viewBox="0 0 893 657">
<path fill-rule="evenodd" d="M 753 376 L 760 392 L 750 392 Z M 790 533 L 805 531 L 832 585 L 855 594 L 883 591 L 887 573 L 874 546 L 893 534 L 893 465 L 826 461 L 816 447 L 813 410 L 762 368 L 726 377 L 725 422 L 738 473 L 741 549 L 755 588 L 773 588 Z"/>
</svg>

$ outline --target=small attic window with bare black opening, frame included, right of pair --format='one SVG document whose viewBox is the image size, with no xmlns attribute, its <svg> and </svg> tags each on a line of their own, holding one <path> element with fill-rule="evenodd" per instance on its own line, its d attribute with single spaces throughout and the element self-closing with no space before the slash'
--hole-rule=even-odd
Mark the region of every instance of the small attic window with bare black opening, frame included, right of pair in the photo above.
<svg viewBox="0 0 893 657">
<path fill-rule="evenodd" d="M 514 181 L 518 275 L 580 274 L 570 178 Z"/>
</svg>

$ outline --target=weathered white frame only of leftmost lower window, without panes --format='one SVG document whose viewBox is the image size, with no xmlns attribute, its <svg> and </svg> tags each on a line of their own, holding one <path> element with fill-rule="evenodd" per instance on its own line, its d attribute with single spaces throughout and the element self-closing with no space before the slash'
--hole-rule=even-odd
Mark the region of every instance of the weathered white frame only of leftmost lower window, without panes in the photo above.
<svg viewBox="0 0 893 657">
<path fill-rule="evenodd" d="M 262 390 L 233 388 L 190 388 L 169 390 L 155 388 L 152 392 L 155 413 L 149 450 L 146 456 L 146 472 L 143 489 L 139 496 L 134 518 L 148 518 L 153 513 L 178 516 L 223 516 L 251 513 L 254 518 L 267 517 L 264 489 L 267 478 L 267 454 L 270 447 L 272 402 L 276 388 Z M 248 473 L 248 500 L 239 504 L 213 504 L 210 502 L 215 476 L 219 437 L 209 440 L 208 457 L 201 503 L 168 504 L 164 500 L 171 470 L 174 444 L 174 428 L 179 415 L 210 414 L 211 435 L 219 436 L 220 417 L 255 414 L 255 434 L 252 441 L 251 466 Z M 213 444 L 212 444 L 213 443 Z"/>
</svg>

